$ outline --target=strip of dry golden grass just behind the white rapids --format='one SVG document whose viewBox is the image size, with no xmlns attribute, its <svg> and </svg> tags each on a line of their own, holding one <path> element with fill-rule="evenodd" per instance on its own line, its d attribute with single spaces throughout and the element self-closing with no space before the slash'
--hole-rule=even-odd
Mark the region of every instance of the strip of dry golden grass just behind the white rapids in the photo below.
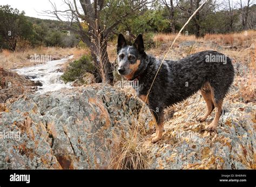
<svg viewBox="0 0 256 187">
<path fill-rule="evenodd" d="M 11 52 L 3 50 L 0 53 L 0 67 L 4 68 L 21 68 L 25 66 L 33 66 L 38 63 L 30 61 L 30 56 L 48 55 L 52 58 L 64 58 L 69 55 L 74 55 L 74 58 L 79 58 L 86 54 L 87 51 L 83 49 L 73 48 L 61 48 L 61 47 L 38 47 L 35 49 L 29 49 L 25 51 Z"/>
</svg>

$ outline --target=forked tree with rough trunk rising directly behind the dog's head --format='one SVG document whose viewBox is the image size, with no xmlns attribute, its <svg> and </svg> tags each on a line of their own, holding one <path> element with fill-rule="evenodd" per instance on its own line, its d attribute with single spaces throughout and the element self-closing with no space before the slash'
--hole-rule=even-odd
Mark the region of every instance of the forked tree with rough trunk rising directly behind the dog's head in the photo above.
<svg viewBox="0 0 256 187">
<path fill-rule="evenodd" d="M 100 81 L 113 84 L 113 64 L 107 56 L 107 39 L 117 25 L 150 2 L 146 0 L 95 0 L 92 2 L 64 0 L 64 3 L 67 6 L 65 11 L 58 10 L 56 4 L 51 3 L 52 10 L 44 13 L 66 24 L 65 29 L 79 34 L 91 51 Z M 84 23 L 87 27 L 83 26 Z"/>
</svg>

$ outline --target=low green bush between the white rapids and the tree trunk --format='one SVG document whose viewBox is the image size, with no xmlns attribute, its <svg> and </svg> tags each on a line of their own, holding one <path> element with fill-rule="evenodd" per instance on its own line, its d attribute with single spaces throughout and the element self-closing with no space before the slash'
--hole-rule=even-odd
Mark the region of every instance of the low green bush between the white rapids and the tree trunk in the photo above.
<svg viewBox="0 0 256 187">
<path fill-rule="evenodd" d="M 82 78 L 86 72 L 93 73 L 96 67 L 89 55 L 81 57 L 69 64 L 66 72 L 62 75 L 61 79 L 66 82 L 72 82 L 76 79 Z"/>
</svg>

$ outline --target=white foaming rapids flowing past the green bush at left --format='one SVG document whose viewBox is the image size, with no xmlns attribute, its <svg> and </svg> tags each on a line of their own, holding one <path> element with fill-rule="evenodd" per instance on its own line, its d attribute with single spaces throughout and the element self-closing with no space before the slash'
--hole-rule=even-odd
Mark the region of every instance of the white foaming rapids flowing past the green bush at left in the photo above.
<svg viewBox="0 0 256 187">
<path fill-rule="evenodd" d="M 14 71 L 30 80 L 41 82 L 42 86 L 38 86 L 37 91 L 39 93 L 57 91 L 61 88 L 71 88 L 70 83 L 65 84 L 60 79 L 60 76 L 63 74 L 61 71 L 62 65 L 70 58 L 73 58 L 73 56 L 60 60 L 51 60 L 45 64 L 19 68 Z"/>
</svg>

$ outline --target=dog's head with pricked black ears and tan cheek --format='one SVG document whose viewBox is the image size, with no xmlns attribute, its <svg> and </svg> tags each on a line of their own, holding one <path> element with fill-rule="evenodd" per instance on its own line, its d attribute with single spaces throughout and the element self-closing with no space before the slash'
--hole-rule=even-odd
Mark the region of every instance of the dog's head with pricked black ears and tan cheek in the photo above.
<svg viewBox="0 0 256 187">
<path fill-rule="evenodd" d="M 119 34 L 117 41 L 118 73 L 126 79 L 132 79 L 138 70 L 140 60 L 145 56 L 142 34 L 139 34 L 134 44 L 128 46 L 123 34 Z"/>
</svg>

